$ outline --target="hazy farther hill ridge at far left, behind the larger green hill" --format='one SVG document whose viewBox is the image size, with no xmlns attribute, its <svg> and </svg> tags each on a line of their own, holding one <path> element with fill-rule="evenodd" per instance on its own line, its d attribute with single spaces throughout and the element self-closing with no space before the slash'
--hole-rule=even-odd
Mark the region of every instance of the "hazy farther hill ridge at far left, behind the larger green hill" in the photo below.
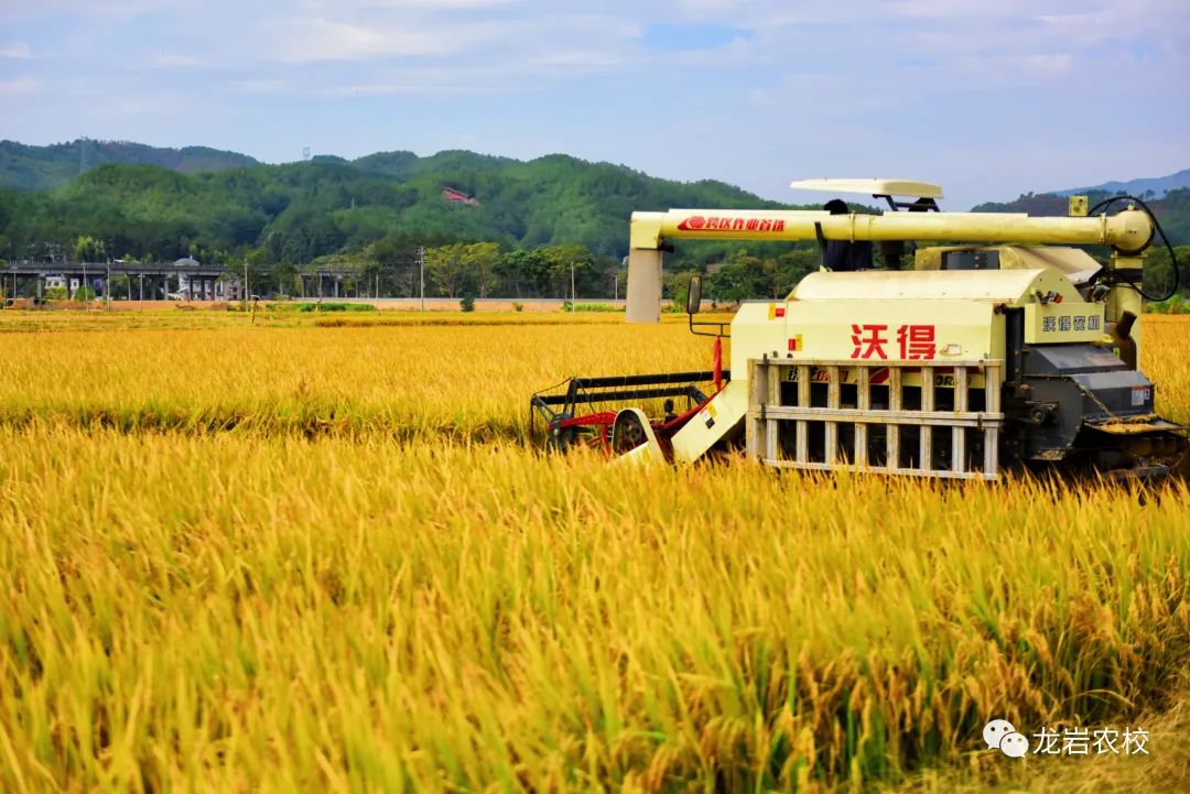
<svg viewBox="0 0 1190 794">
<path fill-rule="evenodd" d="M 61 188 L 80 171 L 104 163 L 159 165 L 183 174 L 259 165 L 246 155 L 206 146 L 158 149 L 126 140 L 86 138 L 52 146 L 26 146 L 0 140 L 0 187 L 14 190 Z"/>
</svg>

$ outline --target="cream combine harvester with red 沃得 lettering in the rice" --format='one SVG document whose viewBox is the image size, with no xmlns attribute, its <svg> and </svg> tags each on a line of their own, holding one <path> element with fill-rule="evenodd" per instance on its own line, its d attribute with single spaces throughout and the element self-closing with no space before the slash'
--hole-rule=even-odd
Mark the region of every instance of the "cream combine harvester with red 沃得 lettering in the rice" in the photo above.
<svg viewBox="0 0 1190 794">
<path fill-rule="evenodd" d="M 1138 370 L 1144 252 L 1154 233 L 1169 246 L 1142 202 L 1089 212 L 1073 197 L 1069 218 L 1031 218 L 942 213 L 940 188 L 920 182 L 793 187 L 871 195 L 890 212 L 833 201 L 831 212 L 633 213 L 628 322 L 659 321 L 672 240 L 818 240 L 822 272 L 784 301 L 745 302 L 729 333 L 695 321 L 693 278 L 690 329 L 715 336 L 714 368 L 572 378 L 533 395 L 531 416 L 555 446 L 674 464 L 743 446 L 779 468 L 984 480 L 1053 467 L 1147 479 L 1177 466 L 1185 429 L 1155 415 Z M 906 242 L 939 240 L 951 245 L 919 247 L 914 269 L 900 269 Z M 1076 245 L 1111 248 L 1110 264 Z M 643 401 L 658 399 L 664 416 L 650 418 Z"/>
</svg>

